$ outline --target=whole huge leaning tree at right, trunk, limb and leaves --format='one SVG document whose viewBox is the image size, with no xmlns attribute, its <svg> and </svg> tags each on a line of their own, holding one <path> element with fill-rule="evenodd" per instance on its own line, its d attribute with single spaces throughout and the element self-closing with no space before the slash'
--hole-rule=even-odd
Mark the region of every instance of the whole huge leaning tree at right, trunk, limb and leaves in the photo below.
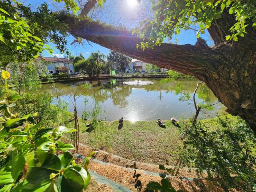
<svg viewBox="0 0 256 192">
<path fill-rule="evenodd" d="M 197 77 L 229 113 L 245 119 L 256 133 L 255 7 L 252 0 L 158 0 L 153 7 L 155 18 L 133 34 L 87 17 L 58 18 L 75 37 Z M 198 34 L 208 30 L 215 46 L 208 47 L 201 38 L 194 46 L 164 43 L 166 37 L 192 25 L 200 27 Z"/>
</svg>

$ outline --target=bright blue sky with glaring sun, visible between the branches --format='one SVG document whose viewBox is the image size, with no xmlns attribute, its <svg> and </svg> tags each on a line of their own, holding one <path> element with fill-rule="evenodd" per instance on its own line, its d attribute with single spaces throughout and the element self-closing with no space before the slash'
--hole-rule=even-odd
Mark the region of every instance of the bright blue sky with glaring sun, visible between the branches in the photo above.
<svg viewBox="0 0 256 192">
<path fill-rule="evenodd" d="M 97 9 L 96 18 L 104 21 L 106 23 L 118 26 L 120 23 L 123 26 L 127 26 L 129 28 L 136 27 L 139 23 L 137 20 L 138 13 L 142 13 L 145 11 L 145 15 L 148 15 L 147 5 L 149 0 L 141 0 L 141 4 L 138 4 L 136 0 L 107 0 L 107 2 L 103 5 L 104 9 Z M 53 3 L 53 0 L 26 0 L 25 3 L 30 3 L 34 8 L 37 8 L 41 3 L 46 2 L 49 5 L 49 8 L 52 10 L 61 10 L 63 9 L 62 4 Z M 84 0 L 85 2 L 85 0 Z M 141 14 L 139 14 L 141 15 Z M 213 45 L 213 41 L 209 39 L 210 35 L 206 31 L 204 35 L 201 36 L 204 38 L 208 45 Z M 194 45 L 196 42 L 196 31 L 188 30 L 181 31 L 181 33 L 177 37 L 173 37 L 172 41 L 174 42 L 175 38 L 178 39 L 179 45 L 184 44 L 192 44 Z M 70 35 L 68 38 L 67 47 L 69 48 L 72 55 L 79 55 L 82 53 L 85 57 L 91 55 L 92 52 L 101 51 L 101 53 L 107 55 L 110 50 L 99 46 L 95 43 L 90 42 L 90 45 L 70 45 L 74 38 Z M 48 43 L 49 46 L 54 47 L 55 45 L 52 43 Z M 54 48 L 54 53 L 56 56 L 63 56 L 56 48 Z M 48 52 L 44 52 L 43 56 L 52 56 Z"/>
</svg>

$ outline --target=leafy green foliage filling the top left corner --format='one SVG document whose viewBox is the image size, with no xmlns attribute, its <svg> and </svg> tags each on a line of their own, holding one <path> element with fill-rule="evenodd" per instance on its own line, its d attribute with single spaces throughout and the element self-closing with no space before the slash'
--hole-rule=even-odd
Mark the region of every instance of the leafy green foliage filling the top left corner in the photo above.
<svg viewBox="0 0 256 192">
<path fill-rule="evenodd" d="M 64 2 L 67 10 L 75 12 L 78 7 L 74 0 L 55 0 Z M 1 65 L 18 61 L 28 62 L 52 49 L 44 43 L 51 41 L 61 52 L 68 53 L 67 27 L 60 23 L 46 3 L 36 11 L 30 5 L 25 6 L 16 0 L 0 1 L 0 48 Z"/>
</svg>

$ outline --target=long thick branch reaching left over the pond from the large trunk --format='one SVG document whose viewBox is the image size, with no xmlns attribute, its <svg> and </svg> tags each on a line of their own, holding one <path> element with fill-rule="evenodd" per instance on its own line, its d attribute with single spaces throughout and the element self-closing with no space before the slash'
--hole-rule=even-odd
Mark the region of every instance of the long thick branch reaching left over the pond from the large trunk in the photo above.
<svg viewBox="0 0 256 192">
<path fill-rule="evenodd" d="M 104 26 L 90 19 L 79 19 L 73 16 L 59 18 L 69 26 L 69 32 L 74 37 L 82 37 L 96 44 L 137 58 L 146 63 L 155 64 L 162 68 L 172 69 L 180 73 L 196 76 L 203 80 L 205 70 L 211 68 L 202 57 L 209 59 L 210 48 L 203 47 L 199 50 L 192 45 L 162 44 L 154 49 L 146 48 L 143 51 L 137 48 L 142 39 L 132 35 L 130 31 Z M 208 53 L 208 55 L 206 54 Z M 212 68 L 212 70 L 215 70 Z"/>
</svg>

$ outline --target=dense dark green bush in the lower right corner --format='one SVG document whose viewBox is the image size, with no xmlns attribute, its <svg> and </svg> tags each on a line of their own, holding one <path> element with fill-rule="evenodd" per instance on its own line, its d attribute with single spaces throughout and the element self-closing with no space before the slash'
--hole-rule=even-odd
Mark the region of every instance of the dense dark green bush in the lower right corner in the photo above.
<svg viewBox="0 0 256 192">
<path fill-rule="evenodd" d="M 239 119 L 218 117 L 219 128 L 212 131 L 202 123 L 187 122 L 182 126 L 184 138 L 183 163 L 205 171 L 208 179 L 225 191 L 235 188 L 252 191 L 256 181 L 256 137 Z"/>
</svg>

